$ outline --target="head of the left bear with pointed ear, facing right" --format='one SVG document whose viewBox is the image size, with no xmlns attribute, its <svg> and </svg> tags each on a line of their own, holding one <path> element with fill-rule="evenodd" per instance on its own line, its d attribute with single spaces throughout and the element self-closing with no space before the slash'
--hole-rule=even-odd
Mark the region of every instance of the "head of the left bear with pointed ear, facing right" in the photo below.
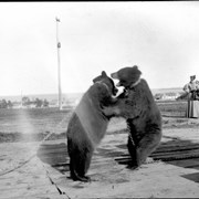
<svg viewBox="0 0 199 199">
<path fill-rule="evenodd" d="M 107 76 L 106 72 L 103 71 L 102 74 L 93 80 L 93 83 L 104 84 L 111 91 L 112 95 L 116 95 L 118 90 L 115 87 L 114 81 Z"/>
</svg>

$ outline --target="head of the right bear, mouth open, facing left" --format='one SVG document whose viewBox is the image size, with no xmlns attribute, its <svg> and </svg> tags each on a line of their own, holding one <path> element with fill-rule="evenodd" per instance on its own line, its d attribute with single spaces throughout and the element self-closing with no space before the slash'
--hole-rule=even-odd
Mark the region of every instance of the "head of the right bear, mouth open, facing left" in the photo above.
<svg viewBox="0 0 199 199">
<path fill-rule="evenodd" d="M 135 84 L 142 75 L 142 72 L 138 70 L 137 65 L 132 67 L 123 67 L 119 71 L 112 73 L 113 78 L 118 80 L 117 86 L 124 86 L 125 88 L 130 87 Z"/>
</svg>

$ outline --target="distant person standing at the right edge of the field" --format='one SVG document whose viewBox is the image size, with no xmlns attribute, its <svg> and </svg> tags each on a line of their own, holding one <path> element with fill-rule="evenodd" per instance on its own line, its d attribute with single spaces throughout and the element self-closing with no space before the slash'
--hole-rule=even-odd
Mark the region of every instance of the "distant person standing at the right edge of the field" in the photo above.
<svg viewBox="0 0 199 199">
<path fill-rule="evenodd" d="M 184 86 L 184 91 L 188 94 L 188 106 L 186 117 L 199 117 L 199 81 L 196 75 L 190 76 L 190 82 Z"/>
</svg>

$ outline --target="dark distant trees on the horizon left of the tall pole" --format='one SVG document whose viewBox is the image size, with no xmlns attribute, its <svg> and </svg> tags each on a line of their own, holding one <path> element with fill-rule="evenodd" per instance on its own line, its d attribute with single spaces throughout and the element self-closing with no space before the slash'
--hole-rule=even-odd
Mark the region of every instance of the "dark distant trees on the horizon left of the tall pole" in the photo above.
<svg viewBox="0 0 199 199">
<path fill-rule="evenodd" d="M 0 100 L 0 108 L 12 108 L 13 104 L 14 103 L 11 101 L 6 101 L 4 98 Z M 35 98 L 31 101 L 28 96 L 22 97 L 21 104 L 27 107 L 31 105 L 34 107 L 49 107 L 49 102 L 46 100 Z"/>
</svg>

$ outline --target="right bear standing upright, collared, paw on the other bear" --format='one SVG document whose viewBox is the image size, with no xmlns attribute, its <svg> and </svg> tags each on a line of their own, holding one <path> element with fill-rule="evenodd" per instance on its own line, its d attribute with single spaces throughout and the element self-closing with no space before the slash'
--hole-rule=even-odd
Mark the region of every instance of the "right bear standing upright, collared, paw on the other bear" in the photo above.
<svg viewBox="0 0 199 199">
<path fill-rule="evenodd" d="M 139 167 L 156 149 L 161 139 L 161 115 L 150 88 L 138 67 L 124 67 L 112 73 L 125 92 L 114 105 L 104 107 L 104 114 L 126 118 L 129 129 L 127 148 L 132 156 L 129 168 Z"/>
</svg>

